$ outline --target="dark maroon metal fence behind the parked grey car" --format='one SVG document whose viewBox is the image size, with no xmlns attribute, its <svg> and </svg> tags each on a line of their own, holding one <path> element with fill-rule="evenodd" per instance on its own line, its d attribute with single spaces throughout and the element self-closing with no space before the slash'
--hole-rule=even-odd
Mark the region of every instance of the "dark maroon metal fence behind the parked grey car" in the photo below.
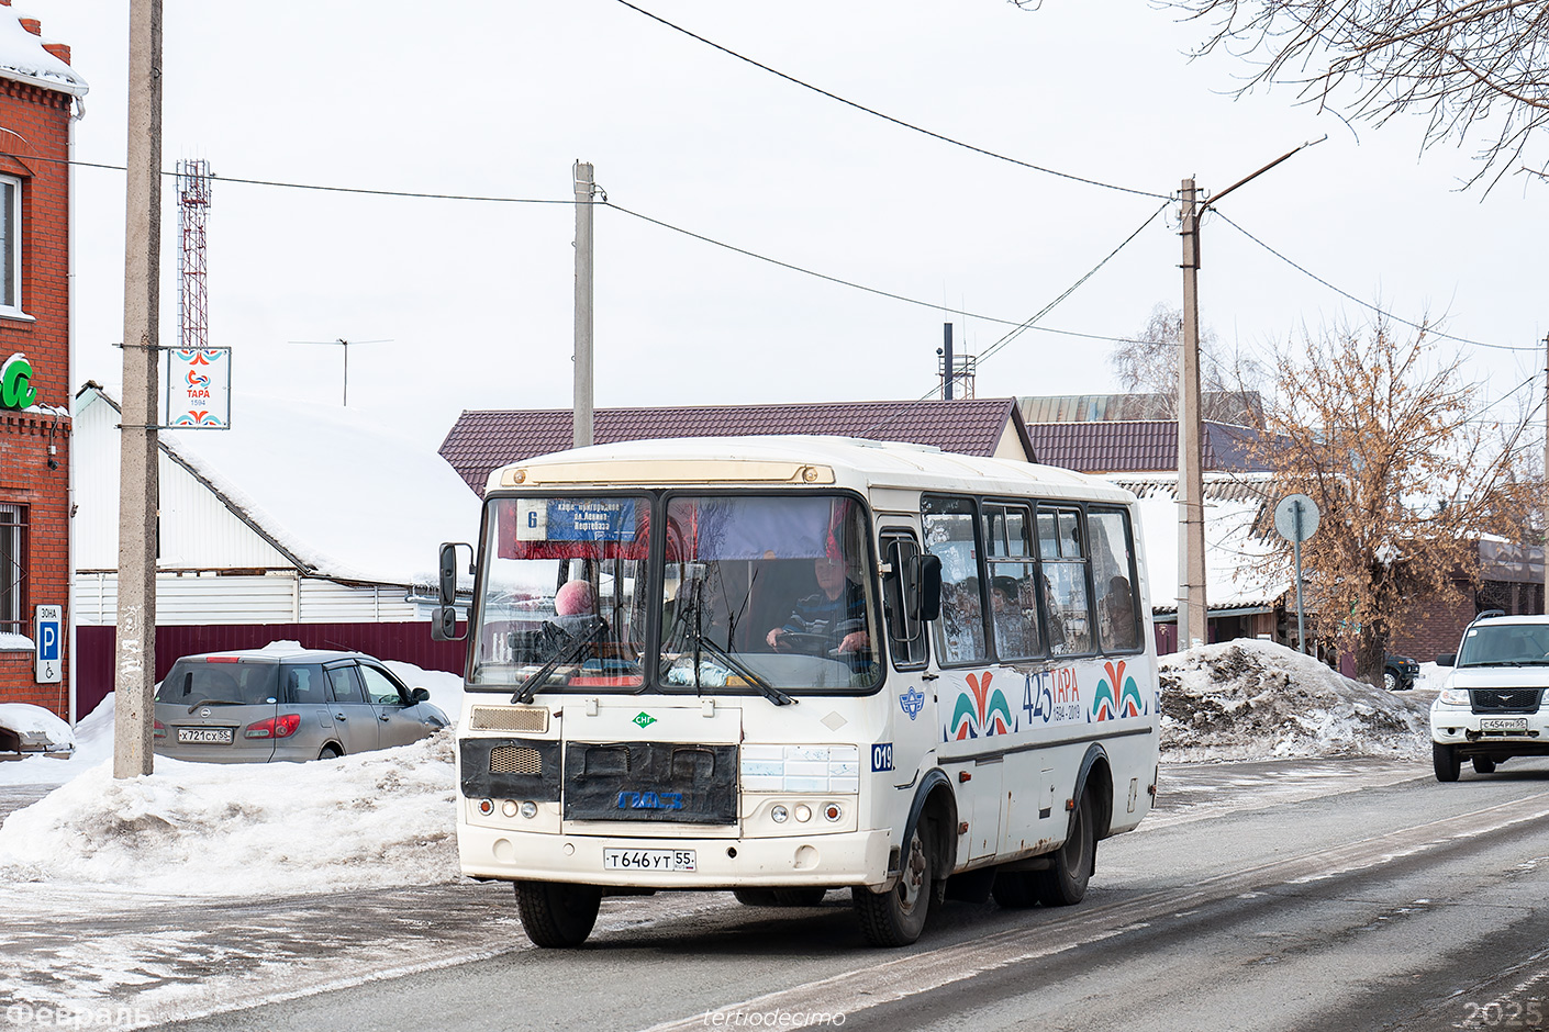
<svg viewBox="0 0 1549 1032">
<path fill-rule="evenodd" d="M 431 639 L 423 624 L 220 624 L 214 627 L 158 627 L 156 679 L 180 656 L 262 648 L 274 641 L 301 642 L 304 648 L 362 651 L 378 659 L 412 662 L 424 670 L 463 671 L 466 642 Z M 76 715 L 85 716 L 113 690 L 113 656 L 118 647 L 115 627 L 76 628 Z"/>
</svg>

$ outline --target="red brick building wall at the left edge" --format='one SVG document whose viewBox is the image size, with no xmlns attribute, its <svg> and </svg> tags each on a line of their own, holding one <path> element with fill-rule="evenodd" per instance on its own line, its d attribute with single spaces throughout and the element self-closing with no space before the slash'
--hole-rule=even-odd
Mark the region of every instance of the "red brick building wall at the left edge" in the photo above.
<svg viewBox="0 0 1549 1032">
<path fill-rule="evenodd" d="M 0 150 L 17 155 L 0 156 L 0 172 L 22 181 L 19 300 L 28 316 L 0 316 L 0 361 L 25 354 L 37 391 L 33 410 L 0 413 L 0 503 L 23 506 L 28 523 L 22 625 L 0 631 L 28 637 L 39 605 L 59 605 L 70 619 L 70 105 L 64 93 L 0 79 Z M 34 659 L 31 650 L 0 651 L 0 702 L 31 702 L 68 719 L 70 650 L 57 684 L 34 678 Z"/>
</svg>

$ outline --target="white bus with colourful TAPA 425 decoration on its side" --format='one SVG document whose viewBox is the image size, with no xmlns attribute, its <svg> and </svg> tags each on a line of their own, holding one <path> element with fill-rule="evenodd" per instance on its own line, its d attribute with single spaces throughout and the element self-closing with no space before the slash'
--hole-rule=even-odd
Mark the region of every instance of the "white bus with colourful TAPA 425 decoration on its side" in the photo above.
<svg viewBox="0 0 1549 1032">
<path fill-rule="evenodd" d="M 491 473 L 457 729 L 463 873 L 538 945 L 603 896 L 1078 902 L 1156 794 L 1126 490 L 846 438 L 596 446 Z M 466 548 L 466 546 L 463 546 Z M 441 549 L 451 637 L 459 546 Z"/>
</svg>

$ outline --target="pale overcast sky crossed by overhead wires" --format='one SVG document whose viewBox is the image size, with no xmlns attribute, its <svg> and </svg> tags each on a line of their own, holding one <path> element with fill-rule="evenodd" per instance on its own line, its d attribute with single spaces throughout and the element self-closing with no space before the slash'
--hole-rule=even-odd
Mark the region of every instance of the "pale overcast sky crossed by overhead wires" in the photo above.
<svg viewBox="0 0 1549 1032">
<path fill-rule="evenodd" d="M 728 50 L 894 118 L 1047 169 L 953 147 L 754 68 L 618 0 L 166 0 L 164 162 L 217 176 L 564 201 L 572 162 L 612 203 L 824 282 L 596 212 L 596 404 L 917 398 L 942 322 L 988 351 L 1163 207 L 1183 176 L 1329 283 L 1453 334 L 1532 348 L 1549 330 L 1549 186 L 1461 193 L 1472 147 L 1420 155 L 1424 122 L 1346 127 L 1290 88 L 1230 94 L 1244 67 L 1190 62 L 1197 26 L 1145 0 L 640 0 Z M 76 158 L 124 162 L 122 0 L 15 0 L 90 82 Z M 164 192 L 163 343 L 175 343 L 177 206 Z M 1179 305 L 1176 204 L 1042 319 L 1140 331 Z M 76 379 L 121 379 L 121 172 L 76 172 Z M 462 408 L 568 407 L 575 231 L 567 204 L 366 196 L 215 183 L 211 343 L 237 387 L 339 404 L 440 439 Z M 1266 351 L 1369 316 L 1221 218 L 1204 227 L 1202 322 Z M 1462 347 L 1485 399 L 1541 351 Z M 1114 387 L 1112 345 L 1029 331 L 979 396 Z M 1510 404 L 1492 415 L 1512 415 Z M 232 419 L 242 419 L 240 407 Z"/>
</svg>

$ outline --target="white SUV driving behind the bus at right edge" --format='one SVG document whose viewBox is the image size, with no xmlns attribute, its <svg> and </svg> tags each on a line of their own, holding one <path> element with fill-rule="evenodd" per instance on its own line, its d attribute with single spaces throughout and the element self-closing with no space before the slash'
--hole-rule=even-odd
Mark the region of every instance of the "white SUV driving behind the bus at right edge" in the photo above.
<svg viewBox="0 0 1549 1032">
<path fill-rule="evenodd" d="M 1549 616 L 1490 610 L 1462 633 L 1455 667 L 1431 702 L 1431 758 L 1437 781 L 1456 781 L 1462 761 L 1479 774 L 1512 757 L 1549 757 Z"/>
</svg>

